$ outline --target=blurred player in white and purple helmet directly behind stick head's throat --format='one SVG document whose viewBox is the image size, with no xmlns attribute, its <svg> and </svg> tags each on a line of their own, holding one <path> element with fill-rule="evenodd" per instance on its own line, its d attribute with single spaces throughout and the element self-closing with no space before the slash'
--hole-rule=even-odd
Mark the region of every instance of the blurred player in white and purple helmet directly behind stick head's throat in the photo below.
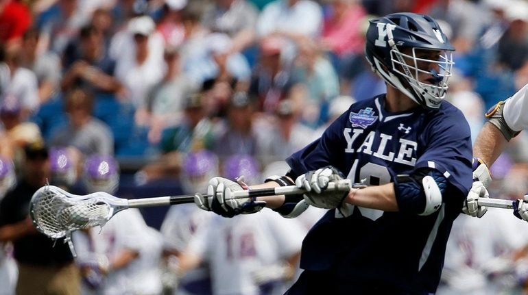
<svg viewBox="0 0 528 295">
<path fill-rule="evenodd" d="M 115 194 L 117 162 L 108 155 L 87 157 L 82 181 L 87 193 Z M 138 209 L 119 212 L 100 232 L 75 231 L 73 242 L 86 294 L 160 294 L 162 241 Z"/>
</svg>

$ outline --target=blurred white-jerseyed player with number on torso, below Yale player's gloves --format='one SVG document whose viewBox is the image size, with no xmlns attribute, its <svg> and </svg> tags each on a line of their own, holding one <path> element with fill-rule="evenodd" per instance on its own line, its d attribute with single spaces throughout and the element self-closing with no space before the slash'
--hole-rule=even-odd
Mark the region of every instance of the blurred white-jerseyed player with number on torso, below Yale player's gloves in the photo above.
<svg viewBox="0 0 528 295">
<path fill-rule="evenodd" d="M 243 176 L 248 184 L 260 181 L 259 164 L 251 156 L 233 155 L 222 168 L 226 177 Z M 202 227 L 189 242 L 180 271 L 207 261 L 213 294 L 283 294 L 296 273 L 306 233 L 297 220 L 263 209 L 254 216 L 213 216 L 211 225 Z"/>
</svg>

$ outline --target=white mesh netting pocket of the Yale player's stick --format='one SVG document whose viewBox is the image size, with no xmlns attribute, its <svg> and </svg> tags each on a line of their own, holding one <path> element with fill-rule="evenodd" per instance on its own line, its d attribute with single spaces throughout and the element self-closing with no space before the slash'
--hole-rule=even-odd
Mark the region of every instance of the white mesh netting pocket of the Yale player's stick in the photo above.
<svg viewBox="0 0 528 295">
<path fill-rule="evenodd" d="M 70 198 L 50 187 L 36 192 L 32 202 L 34 222 L 50 238 L 62 238 L 77 229 L 104 225 L 110 217 L 110 205 Z"/>
</svg>

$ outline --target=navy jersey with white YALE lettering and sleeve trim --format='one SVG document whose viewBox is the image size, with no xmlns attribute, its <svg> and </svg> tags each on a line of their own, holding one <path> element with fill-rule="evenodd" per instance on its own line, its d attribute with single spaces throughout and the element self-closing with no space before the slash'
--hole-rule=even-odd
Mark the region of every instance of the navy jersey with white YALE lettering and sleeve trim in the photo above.
<svg viewBox="0 0 528 295">
<path fill-rule="evenodd" d="M 429 216 L 406 213 L 401 204 L 400 212 L 329 210 L 304 239 L 300 266 L 330 272 L 339 294 L 359 294 L 366 284 L 392 294 L 435 292 L 451 225 L 472 184 L 470 129 L 456 107 L 444 101 L 436 111 L 391 113 L 384 97 L 351 105 L 321 138 L 291 155 L 294 174 L 331 165 L 354 183 L 382 185 L 429 167 L 448 185 L 442 206 Z"/>
</svg>

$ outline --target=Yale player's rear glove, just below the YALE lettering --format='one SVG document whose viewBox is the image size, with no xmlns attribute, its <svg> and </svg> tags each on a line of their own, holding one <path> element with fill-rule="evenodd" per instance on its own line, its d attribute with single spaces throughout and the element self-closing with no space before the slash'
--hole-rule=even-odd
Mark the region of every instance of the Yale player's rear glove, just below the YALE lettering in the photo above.
<svg viewBox="0 0 528 295">
<path fill-rule="evenodd" d="M 331 190 L 326 191 L 328 183 L 344 179 L 344 175 L 332 166 L 317 169 L 304 173 L 297 177 L 295 185 L 298 188 L 306 190 L 304 192 L 304 201 L 309 205 L 324 209 L 333 209 L 341 207 L 348 191 Z"/>
</svg>

